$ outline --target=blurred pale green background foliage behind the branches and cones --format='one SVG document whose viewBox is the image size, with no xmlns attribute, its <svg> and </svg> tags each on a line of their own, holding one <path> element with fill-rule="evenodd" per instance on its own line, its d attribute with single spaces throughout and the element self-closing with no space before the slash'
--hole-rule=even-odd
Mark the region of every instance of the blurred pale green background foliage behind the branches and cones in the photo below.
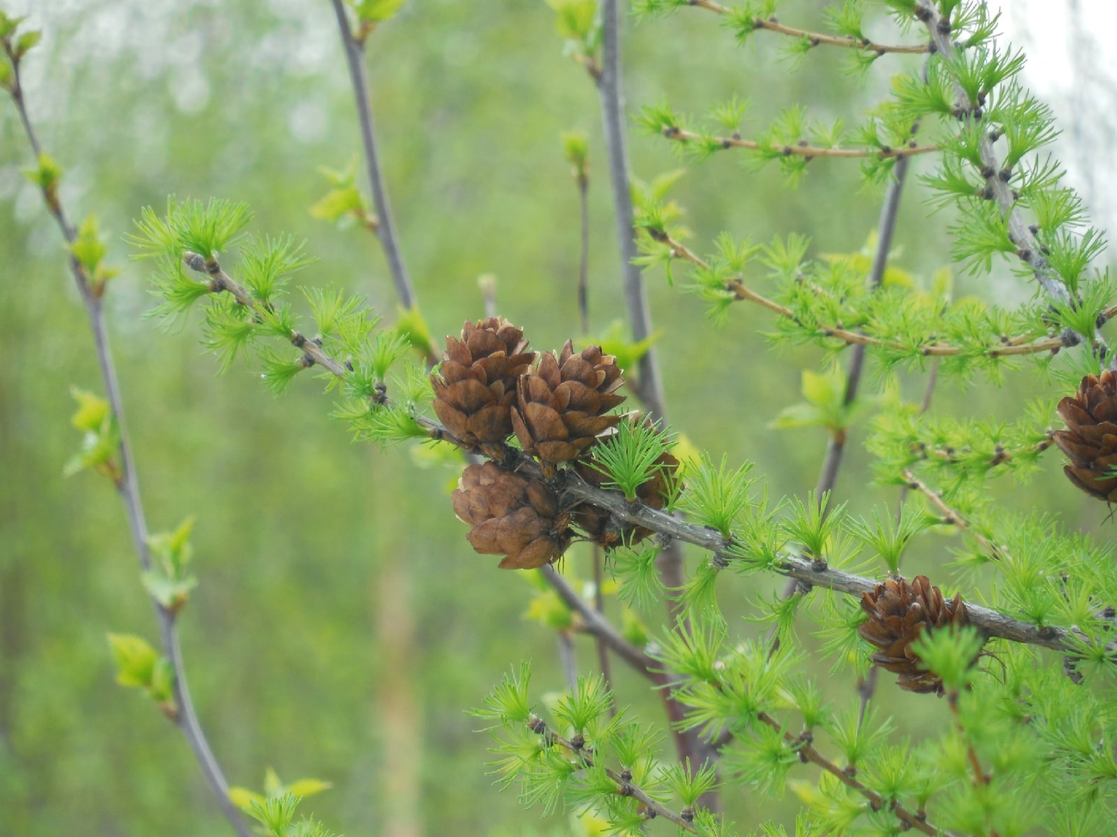
<svg viewBox="0 0 1117 837">
<path fill-rule="evenodd" d="M 109 232 L 98 267 L 124 269 L 108 286 L 108 315 L 150 526 L 173 531 L 197 516 L 191 576 L 198 586 L 180 626 L 195 702 L 230 782 L 256 787 L 270 768 L 330 781 L 333 788 L 304 808 L 350 835 L 575 828 L 561 814 L 540 824 L 514 795 L 497 792 L 485 775 L 486 740 L 464 713 L 523 658 L 534 661 L 536 687 L 557 690 L 563 681 L 553 634 L 524 622 L 531 585 L 475 555 L 454 519 L 447 497 L 454 463 L 428 458 L 420 469 L 407 450 L 352 443 L 341 424 L 326 421 L 328 404 L 308 379 L 277 400 L 254 379 L 258 368 L 233 366 L 216 377 L 213 359 L 199 357 L 197 334 L 166 336 L 143 319 L 151 307 L 143 271 L 125 264 L 121 235 L 141 206 L 161 205 L 170 193 L 246 201 L 256 231 L 307 240 L 306 252 L 318 261 L 300 275 L 305 282 L 366 296 L 395 321 L 375 240 L 359 225 L 321 220 L 355 210 L 361 221 L 365 212 L 351 193 L 341 209 L 327 211 L 322 202 L 319 170 L 343 172 L 360 150 L 330 4 L 4 6 L 29 12 L 44 32 L 25 61 L 23 80 L 49 160 L 64 172 L 60 196 L 76 218 L 99 219 Z M 786 8 L 815 21 L 813 6 Z M 574 35 L 584 33 L 563 37 Z M 839 71 L 842 56 L 814 50 L 792 71 L 775 39 L 756 37 L 739 50 L 716 20 L 698 15 L 630 27 L 624 46 L 630 114 L 665 95 L 689 112 L 738 95 L 753 100 L 750 116 L 758 126 L 796 103 L 823 119 L 856 117 L 887 94 L 891 71 L 918 60 L 877 61 L 865 70 L 862 90 Z M 554 12 L 522 0 L 412 2 L 375 28 L 366 49 L 384 175 L 436 344 L 481 315 L 480 273 L 497 277 L 500 312 L 523 326 L 535 347 L 558 346 L 576 331 L 577 191 L 560 138 L 570 131 L 589 137 L 591 331 L 615 339 L 609 324 L 623 316 L 623 302 L 596 92 L 564 57 Z M 669 143 L 634 127 L 630 143 L 641 181 L 656 183 L 678 169 Z M 6 100 L 3 830 L 27 837 L 221 834 L 227 826 L 185 741 L 137 691 L 115 682 L 106 634 L 153 639 L 154 620 L 111 485 L 93 472 L 63 477 L 80 444 L 69 423 L 70 387 L 95 394 L 102 387 L 66 253 L 22 174 L 35 162 Z M 344 191 L 351 184 L 336 174 L 332 185 Z M 910 187 L 900 212 L 903 254 L 895 264 L 929 285 L 949 261 L 949 219 L 928 220 L 919 190 Z M 747 171 L 723 155 L 688 170 L 672 196 L 686 208 L 695 241 L 705 244 L 722 230 L 756 241 L 802 232 L 821 253 L 857 251 L 879 210 L 879 194 L 866 193 L 856 164 L 841 161 L 813 161 L 798 191 L 787 191 L 779 171 Z M 1031 294 L 1006 273 L 993 281 L 961 277 L 956 285 L 958 296 L 1003 304 Z M 681 297 L 660 273 L 649 275 L 649 295 L 662 330 L 656 348 L 672 426 L 729 462 L 755 462 L 775 496 L 805 496 L 827 432 L 768 425 L 801 402 L 801 382 L 825 381 L 820 353 L 771 355 L 762 334 L 772 329 L 768 315 L 743 304 L 724 328 L 712 329 L 705 306 Z M 427 328 L 417 312 L 405 326 Z M 941 391 L 936 405 L 946 415 L 1010 420 L 1025 395 L 1041 394 L 1031 376 L 1021 387 L 1024 379 L 1010 374 L 999 392 Z M 918 400 L 920 377 L 903 385 Z M 806 397 L 822 412 L 832 401 Z M 867 485 L 863 429 L 855 427 L 851 440 L 836 499 L 859 512 L 892 503 L 894 489 Z M 1041 462 L 1050 474 L 1059 464 Z M 1005 507 L 1063 510 L 1086 527 L 1105 513 L 1061 477 L 994 491 Z M 923 542 L 905 566 L 935 566 L 956 542 L 948 532 L 937 546 Z M 588 577 L 588 559 L 575 549 L 567 569 Z M 744 612 L 739 602 L 771 597 L 782 586 L 758 576 L 750 578 L 752 589 L 735 584 L 733 598 L 722 602 L 731 618 Z M 728 598 L 725 586 L 722 596 Z M 608 609 L 621 622 L 618 603 Z M 666 616 L 646 618 L 655 629 Z M 579 658 L 592 673 L 586 642 L 579 639 Z M 656 696 L 617 671 L 621 703 L 657 716 Z M 834 679 L 827 696 L 846 705 L 853 685 Z M 880 703 L 886 713 L 947 722 L 945 705 L 918 695 L 882 689 Z M 741 822 L 781 811 L 791 821 L 790 800 L 783 808 L 752 797 L 725 802 Z"/>
</svg>

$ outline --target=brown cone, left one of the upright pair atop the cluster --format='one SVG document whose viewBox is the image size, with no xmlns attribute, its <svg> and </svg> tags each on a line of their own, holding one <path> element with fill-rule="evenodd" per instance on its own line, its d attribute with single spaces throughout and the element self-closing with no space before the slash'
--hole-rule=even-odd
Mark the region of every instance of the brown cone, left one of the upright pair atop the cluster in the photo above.
<svg viewBox="0 0 1117 837">
<path fill-rule="evenodd" d="M 516 382 L 531 367 L 524 333 L 505 319 L 466 323 L 461 339 L 446 338 L 435 386 L 435 412 L 455 439 L 471 448 L 512 435 Z"/>
</svg>

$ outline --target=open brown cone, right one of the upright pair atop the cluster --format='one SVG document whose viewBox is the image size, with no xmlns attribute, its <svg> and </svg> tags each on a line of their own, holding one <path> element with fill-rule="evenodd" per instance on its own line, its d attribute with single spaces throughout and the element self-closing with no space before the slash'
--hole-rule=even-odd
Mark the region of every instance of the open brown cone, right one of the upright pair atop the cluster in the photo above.
<svg viewBox="0 0 1117 837">
<path fill-rule="evenodd" d="M 534 372 L 522 376 L 516 388 L 512 426 L 525 451 L 544 464 L 576 459 L 594 437 L 621 420 L 603 415 L 622 401 L 617 389 L 624 384 L 617 358 L 598 346 L 575 354 L 570 340 L 557 357 L 540 355 Z"/>
</svg>

